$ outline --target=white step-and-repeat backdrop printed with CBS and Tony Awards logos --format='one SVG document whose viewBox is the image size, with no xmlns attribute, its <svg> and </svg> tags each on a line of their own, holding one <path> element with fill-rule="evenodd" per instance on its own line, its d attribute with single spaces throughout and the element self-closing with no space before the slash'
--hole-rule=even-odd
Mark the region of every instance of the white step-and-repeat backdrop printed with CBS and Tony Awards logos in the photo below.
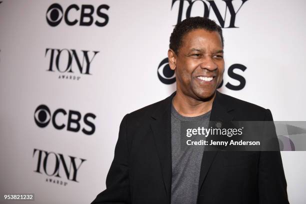
<svg viewBox="0 0 306 204">
<path fill-rule="evenodd" d="M 304 0 L 0 0 L 0 192 L 89 203 L 105 189 L 122 117 L 175 90 L 173 26 L 215 20 L 219 90 L 306 120 Z M 281 152 L 290 203 L 306 203 L 304 151 Z"/>
</svg>

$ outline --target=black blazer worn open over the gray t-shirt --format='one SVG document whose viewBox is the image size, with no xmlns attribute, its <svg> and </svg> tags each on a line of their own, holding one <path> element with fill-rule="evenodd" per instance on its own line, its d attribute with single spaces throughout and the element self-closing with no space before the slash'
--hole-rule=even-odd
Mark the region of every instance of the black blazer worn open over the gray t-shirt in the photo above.
<svg viewBox="0 0 306 204">
<path fill-rule="evenodd" d="M 92 203 L 167 204 L 171 197 L 171 100 L 126 114 L 106 189 Z M 216 92 L 211 121 L 272 120 L 269 109 Z M 197 203 L 289 203 L 279 151 L 204 151 Z"/>
</svg>

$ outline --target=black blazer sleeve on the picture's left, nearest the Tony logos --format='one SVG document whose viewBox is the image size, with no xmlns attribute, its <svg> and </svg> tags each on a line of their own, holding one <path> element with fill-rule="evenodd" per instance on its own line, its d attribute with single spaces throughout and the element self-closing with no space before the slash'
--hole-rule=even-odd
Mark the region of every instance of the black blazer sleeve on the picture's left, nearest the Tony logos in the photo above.
<svg viewBox="0 0 306 204">
<path fill-rule="evenodd" d="M 130 203 L 128 179 L 128 148 L 126 141 L 126 114 L 119 128 L 114 158 L 106 177 L 106 189 L 100 192 L 91 204 Z"/>
</svg>

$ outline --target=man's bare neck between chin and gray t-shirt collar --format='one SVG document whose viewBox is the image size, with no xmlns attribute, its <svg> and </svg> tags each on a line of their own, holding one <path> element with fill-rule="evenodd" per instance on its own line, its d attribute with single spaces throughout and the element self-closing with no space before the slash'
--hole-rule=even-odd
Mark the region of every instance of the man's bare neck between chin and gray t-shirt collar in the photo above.
<svg viewBox="0 0 306 204">
<path fill-rule="evenodd" d="M 215 94 L 213 97 L 211 97 L 211 99 L 202 101 L 184 95 L 180 91 L 176 91 L 172 104 L 180 115 L 195 117 L 211 110 L 214 97 Z"/>
</svg>

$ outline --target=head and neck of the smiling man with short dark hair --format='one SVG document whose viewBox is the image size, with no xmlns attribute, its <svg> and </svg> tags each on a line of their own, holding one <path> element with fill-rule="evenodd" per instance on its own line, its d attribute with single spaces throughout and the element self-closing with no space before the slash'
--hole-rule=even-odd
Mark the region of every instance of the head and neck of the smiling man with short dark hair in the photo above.
<svg viewBox="0 0 306 204">
<path fill-rule="evenodd" d="M 176 76 L 173 105 L 184 116 L 196 116 L 211 109 L 224 72 L 221 28 L 208 20 L 205 29 L 193 26 L 183 38 L 177 35 L 186 32 L 185 27 L 175 27 L 168 50 L 169 65 Z"/>
</svg>

